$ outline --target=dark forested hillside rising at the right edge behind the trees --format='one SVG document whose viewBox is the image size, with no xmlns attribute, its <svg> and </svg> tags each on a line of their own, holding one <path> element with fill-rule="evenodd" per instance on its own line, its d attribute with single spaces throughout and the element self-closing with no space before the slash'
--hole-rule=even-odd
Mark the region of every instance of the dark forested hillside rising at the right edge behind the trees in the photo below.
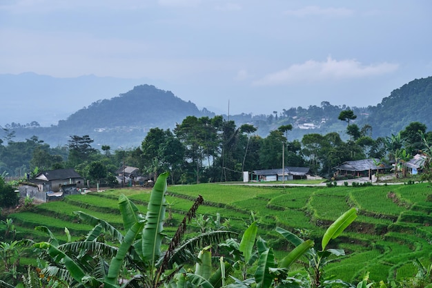
<svg viewBox="0 0 432 288">
<path fill-rule="evenodd" d="M 415 79 L 393 90 L 377 106 L 368 108 L 366 121 L 373 127 L 373 137 L 389 136 L 403 130 L 411 122 L 432 129 L 432 77 Z"/>
</svg>

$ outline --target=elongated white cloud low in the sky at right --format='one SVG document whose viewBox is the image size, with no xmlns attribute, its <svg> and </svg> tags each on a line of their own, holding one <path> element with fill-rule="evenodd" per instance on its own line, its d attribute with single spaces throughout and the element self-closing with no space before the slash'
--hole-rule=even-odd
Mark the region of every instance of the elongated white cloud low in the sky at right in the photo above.
<svg viewBox="0 0 432 288">
<path fill-rule="evenodd" d="M 308 60 L 268 74 L 255 81 L 257 86 L 310 83 L 324 80 L 340 80 L 384 75 L 397 70 L 397 64 L 380 63 L 363 65 L 355 59 L 337 61 L 328 57 L 326 61 Z"/>
</svg>

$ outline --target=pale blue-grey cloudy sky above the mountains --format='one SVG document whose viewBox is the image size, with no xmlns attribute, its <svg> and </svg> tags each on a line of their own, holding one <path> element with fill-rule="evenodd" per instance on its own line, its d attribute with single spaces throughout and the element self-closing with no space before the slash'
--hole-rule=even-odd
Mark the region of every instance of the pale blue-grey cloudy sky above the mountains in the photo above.
<svg viewBox="0 0 432 288">
<path fill-rule="evenodd" d="M 430 0 L 1 0 L 0 74 L 150 79 L 218 113 L 369 106 L 432 75 L 431 15 Z"/>
</svg>

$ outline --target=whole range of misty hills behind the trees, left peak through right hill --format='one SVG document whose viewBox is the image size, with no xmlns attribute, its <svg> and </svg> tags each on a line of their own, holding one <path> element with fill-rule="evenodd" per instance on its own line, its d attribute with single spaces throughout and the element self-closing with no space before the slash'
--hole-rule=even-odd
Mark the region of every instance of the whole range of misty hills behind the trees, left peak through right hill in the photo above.
<svg viewBox="0 0 432 288">
<path fill-rule="evenodd" d="M 21 83 L 23 84 L 23 83 Z M 308 108 L 284 108 L 274 115 L 252 115 L 242 113 L 229 115 L 237 126 L 244 123 L 258 128 L 257 134 L 266 137 L 268 132 L 284 124 L 293 124 L 289 134 L 291 140 L 301 140 L 306 133 L 344 134 L 346 124 L 337 119 L 340 111 L 349 106 L 333 106 L 322 102 L 320 106 Z M 351 107 L 359 126 L 373 127 L 373 137 L 389 136 L 397 133 L 410 122 L 418 121 L 432 127 L 432 77 L 415 79 L 397 88 L 389 97 L 384 97 L 377 106 Z M 90 135 L 96 144 L 136 147 L 144 140 L 150 128 L 175 128 L 176 123 L 189 115 L 213 117 L 215 113 L 206 108 L 199 110 L 192 102 L 186 102 L 174 93 L 161 90 L 153 85 L 138 85 L 127 93 L 111 99 L 92 102 L 59 120 L 57 126 L 22 128 L 10 127 L 16 131 L 14 141 L 21 141 L 37 135 L 50 146 L 67 144 L 70 135 Z M 228 119 L 228 115 L 224 115 Z"/>
</svg>

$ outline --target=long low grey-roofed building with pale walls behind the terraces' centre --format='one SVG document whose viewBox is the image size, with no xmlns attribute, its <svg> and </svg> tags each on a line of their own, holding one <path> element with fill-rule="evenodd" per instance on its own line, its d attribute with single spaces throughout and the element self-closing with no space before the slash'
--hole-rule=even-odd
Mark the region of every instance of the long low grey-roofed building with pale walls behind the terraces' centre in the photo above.
<svg viewBox="0 0 432 288">
<path fill-rule="evenodd" d="M 285 167 L 282 169 L 265 169 L 255 170 L 252 173 L 253 181 L 282 181 L 282 180 L 299 180 L 307 179 L 309 167 Z"/>
</svg>

